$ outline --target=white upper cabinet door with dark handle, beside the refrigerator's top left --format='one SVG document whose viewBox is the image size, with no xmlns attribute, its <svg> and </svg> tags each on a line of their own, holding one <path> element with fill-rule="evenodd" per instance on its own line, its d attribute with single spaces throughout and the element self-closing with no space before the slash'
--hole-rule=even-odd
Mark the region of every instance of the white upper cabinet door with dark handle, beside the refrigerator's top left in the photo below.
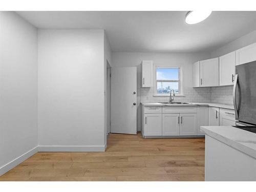
<svg viewBox="0 0 256 192">
<path fill-rule="evenodd" d="M 219 58 L 220 86 L 231 86 L 234 83 L 236 52 L 233 51 Z"/>
</svg>

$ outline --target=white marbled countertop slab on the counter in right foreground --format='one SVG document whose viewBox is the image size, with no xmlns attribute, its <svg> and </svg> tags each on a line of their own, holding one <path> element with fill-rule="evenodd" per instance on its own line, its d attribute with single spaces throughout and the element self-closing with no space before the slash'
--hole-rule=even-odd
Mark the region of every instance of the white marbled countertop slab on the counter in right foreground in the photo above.
<svg viewBox="0 0 256 192">
<path fill-rule="evenodd" d="M 256 134 L 233 126 L 201 126 L 200 130 L 256 159 Z"/>
</svg>

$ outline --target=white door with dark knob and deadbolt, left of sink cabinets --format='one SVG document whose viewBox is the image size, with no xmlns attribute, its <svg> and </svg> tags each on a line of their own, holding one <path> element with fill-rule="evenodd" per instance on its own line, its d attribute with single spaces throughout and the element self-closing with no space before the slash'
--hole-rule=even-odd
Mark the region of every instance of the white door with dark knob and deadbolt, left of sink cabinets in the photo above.
<svg viewBox="0 0 256 192">
<path fill-rule="evenodd" d="M 111 68 L 111 133 L 137 134 L 137 68 Z"/>
</svg>

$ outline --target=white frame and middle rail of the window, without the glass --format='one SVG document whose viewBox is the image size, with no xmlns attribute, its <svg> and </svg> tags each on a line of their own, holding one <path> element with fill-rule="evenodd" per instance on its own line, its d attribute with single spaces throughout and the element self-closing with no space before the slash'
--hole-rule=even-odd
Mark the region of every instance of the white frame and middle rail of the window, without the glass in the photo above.
<svg viewBox="0 0 256 192">
<path fill-rule="evenodd" d="M 154 97 L 169 97 L 169 94 L 157 94 L 157 68 L 177 69 L 179 68 L 179 94 L 175 97 L 183 97 L 183 86 L 182 86 L 182 66 L 155 66 L 154 65 Z M 177 80 L 162 80 L 165 82 L 177 82 Z"/>
</svg>

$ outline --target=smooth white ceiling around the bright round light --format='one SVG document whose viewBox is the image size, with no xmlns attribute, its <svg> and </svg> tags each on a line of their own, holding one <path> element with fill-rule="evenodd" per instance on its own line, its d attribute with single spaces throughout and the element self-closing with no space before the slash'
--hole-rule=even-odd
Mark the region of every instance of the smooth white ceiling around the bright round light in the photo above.
<svg viewBox="0 0 256 192">
<path fill-rule="evenodd" d="M 42 29 L 105 29 L 112 51 L 212 51 L 256 30 L 256 11 L 214 11 L 185 23 L 187 11 L 18 11 Z"/>
</svg>

